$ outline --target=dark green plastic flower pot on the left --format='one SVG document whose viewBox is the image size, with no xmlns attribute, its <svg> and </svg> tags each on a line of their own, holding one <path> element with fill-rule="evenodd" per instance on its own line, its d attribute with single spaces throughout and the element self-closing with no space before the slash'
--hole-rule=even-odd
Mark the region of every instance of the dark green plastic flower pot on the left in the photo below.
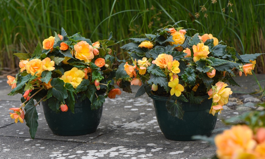
<svg viewBox="0 0 265 159">
<path fill-rule="evenodd" d="M 100 123 L 103 106 L 91 110 L 91 102 L 87 98 L 80 102 L 76 100 L 75 113 L 69 109 L 67 112 L 55 113 L 48 106 L 48 100 L 41 102 L 45 119 L 51 131 L 60 136 L 78 136 L 94 133 Z M 67 104 L 67 103 L 66 103 Z"/>
</svg>

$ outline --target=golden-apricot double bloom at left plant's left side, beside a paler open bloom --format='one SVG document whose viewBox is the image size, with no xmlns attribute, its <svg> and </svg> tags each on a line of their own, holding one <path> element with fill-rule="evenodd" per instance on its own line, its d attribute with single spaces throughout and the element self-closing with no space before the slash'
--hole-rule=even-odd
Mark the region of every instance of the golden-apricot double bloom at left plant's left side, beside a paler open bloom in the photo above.
<svg viewBox="0 0 265 159">
<path fill-rule="evenodd" d="M 37 77 L 41 76 L 41 73 L 44 71 L 43 63 L 40 59 L 32 59 L 26 63 L 27 73 L 30 73 L 32 76 L 36 73 Z"/>
</svg>

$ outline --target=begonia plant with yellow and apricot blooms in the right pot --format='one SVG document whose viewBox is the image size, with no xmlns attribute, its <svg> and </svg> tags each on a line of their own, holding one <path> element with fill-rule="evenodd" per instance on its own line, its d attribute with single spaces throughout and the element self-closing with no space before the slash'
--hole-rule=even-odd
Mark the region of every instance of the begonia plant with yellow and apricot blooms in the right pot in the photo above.
<svg viewBox="0 0 265 159">
<path fill-rule="evenodd" d="M 239 55 L 212 34 L 188 36 L 191 29 L 177 27 L 178 23 L 145 38 L 131 38 L 133 42 L 122 46 L 130 60 L 119 66 L 116 80 L 141 86 L 135 97 L 144 93 L 168 97 L 166 108 L 179 119 L 184 115 L 182 102 L 212 99 L 209 113 L 221 112 L 232 94 L 227 83 L 239 86 L 233 70 L 238 69 L 240 76 L 252 74 L 261 54 Z"/>
</svg>

